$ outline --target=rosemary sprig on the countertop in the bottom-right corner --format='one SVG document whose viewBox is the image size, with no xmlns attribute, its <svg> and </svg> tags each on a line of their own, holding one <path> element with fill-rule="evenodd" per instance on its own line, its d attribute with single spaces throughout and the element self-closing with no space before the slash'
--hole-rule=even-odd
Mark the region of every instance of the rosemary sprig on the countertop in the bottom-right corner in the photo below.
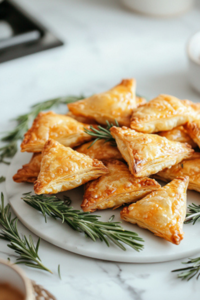
<svg viewBox="0 0 200 300">
<path fill-rule="evenodd" d="M 187 262 L 182 262 L 182 264 L 193 264 L 190 267 L 181 268 L 177 270 L 173 270 L 172 272 L 181 272 L 178 274 L 178 278 L 181 278 L 182 280 L 187 279 L 190 280 L 194 276 L 196 276 L 196 279 L 199 278 L 200 275 L 200 257 L 196 258 L 189 258 L 190 260 Z"/>
</svg>

